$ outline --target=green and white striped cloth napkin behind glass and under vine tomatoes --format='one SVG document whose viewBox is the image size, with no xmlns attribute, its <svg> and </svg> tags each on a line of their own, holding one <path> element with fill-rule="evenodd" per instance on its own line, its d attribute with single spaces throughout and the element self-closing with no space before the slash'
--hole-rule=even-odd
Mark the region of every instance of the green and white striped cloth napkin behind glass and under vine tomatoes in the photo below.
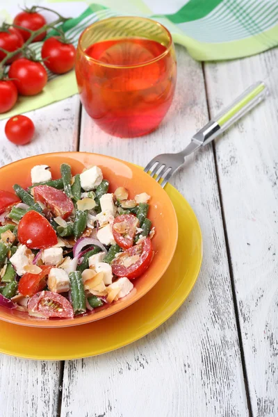
<svg viewBox="0 0 278 417">
<path fill-rule="evenodd" d="M 69 13 L 70 3 L 67 3 L 64 14 Z M 122 0 L 101 0 L 90 4 L 61 28 L 67 37 L 74 38 L 76 46 L 85 27 L 117 15 L 140 15 L 161 22 L 172 33 L 174 42 L 186 47 L 196 60 L 240 58 L 278 44 L 277 0 L 189 0 L 170 15 L 154 15 L 141 0 L 130 0 L 125 5 Z M 41 47 L 42 42 L 33 44 L 38 56 Z M 15 108 L 0 115 L 0 119 L 46 106 L 76 92 L 74 71 L 62 76 L 49 72 L 49 83 L 43 92 L 34 97 L 19 97 Z"/>
</svg>

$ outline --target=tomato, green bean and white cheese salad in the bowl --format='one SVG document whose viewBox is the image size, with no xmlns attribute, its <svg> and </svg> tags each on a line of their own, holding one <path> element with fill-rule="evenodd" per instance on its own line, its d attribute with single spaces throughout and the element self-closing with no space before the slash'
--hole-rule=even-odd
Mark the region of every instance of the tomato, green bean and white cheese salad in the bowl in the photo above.
<svg viewBox="0 0 278 417">
<path fill-rule="evenodd" d="M 32 185 L 0 190 L 0 305 L 74 318 L 126 297 L 154 256 L 149 195 L 109 192 L 101 169 L 36 165 Z"/>
</svg>

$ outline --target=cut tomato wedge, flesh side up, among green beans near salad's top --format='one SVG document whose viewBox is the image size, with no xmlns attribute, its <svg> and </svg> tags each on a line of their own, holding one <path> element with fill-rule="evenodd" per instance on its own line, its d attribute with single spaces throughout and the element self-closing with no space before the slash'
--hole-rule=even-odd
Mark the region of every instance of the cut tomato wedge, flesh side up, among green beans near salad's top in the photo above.
<svg viewBox="0 0 278 417">
<path fill-rule="evenodd" d="M 63 191 L 49 186 L 36 186 L 33 190 L 35 201 L 45 204 L 56 217 L 66 219 L 72 213 L 74 204 Z"/>
</svg>

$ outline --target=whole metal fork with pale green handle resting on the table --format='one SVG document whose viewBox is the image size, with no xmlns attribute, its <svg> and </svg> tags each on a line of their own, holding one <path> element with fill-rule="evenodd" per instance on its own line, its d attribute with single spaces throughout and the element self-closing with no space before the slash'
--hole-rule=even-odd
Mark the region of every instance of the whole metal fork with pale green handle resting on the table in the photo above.
<svg viewBox="0 0 278 417">
<path fill-rule="evenodd" d="M 230 106 L 224 108 L 206 126 L 195 133 L 186 149 L 183 149 L 183 151 L 177 154 L 161 154 L 152 158 L 152 161 L 147 164 L 144 171 L 149 172 L 151 177 L 156 175 L 157 182 L 163 179 L 161 187 L 164 188 L 174 172 L 183 165 L 186 156 L 195 152 L 199 147 L 207 145 L 211 140 L 218 138 L 231 124 L 240 119 L 240 117 L 250 111 L 256 104 L 259 104 L 267 95 L 268 88 L 265 83 L 262 81 L 254 83 Z"/>
</svg>

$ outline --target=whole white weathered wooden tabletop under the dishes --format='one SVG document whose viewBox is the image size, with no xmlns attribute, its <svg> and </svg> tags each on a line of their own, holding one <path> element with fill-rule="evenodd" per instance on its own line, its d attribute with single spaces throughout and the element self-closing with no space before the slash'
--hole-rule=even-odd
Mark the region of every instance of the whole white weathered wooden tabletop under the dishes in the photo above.
<svg viewBox="0 0 278 417">
<path fill-rule="evenodd" d="M 202 65 L 177 47 L 177 58 L 174 104 L 149 136 L 108 136 L 78 96 L 29 113 L 37 136 L 25 147 L 8 142 L 0 123 L 1 165 L 78 149 L 145 165 L 185 147 L 252 82 L 265 80 L 271 92 L 172 179 L 204 238 L 202 270 L 179 311 L 99 357 L 60 363 L 0 355 L 0 417 L 278 416 L 278 49 Z"/>
</svg>

